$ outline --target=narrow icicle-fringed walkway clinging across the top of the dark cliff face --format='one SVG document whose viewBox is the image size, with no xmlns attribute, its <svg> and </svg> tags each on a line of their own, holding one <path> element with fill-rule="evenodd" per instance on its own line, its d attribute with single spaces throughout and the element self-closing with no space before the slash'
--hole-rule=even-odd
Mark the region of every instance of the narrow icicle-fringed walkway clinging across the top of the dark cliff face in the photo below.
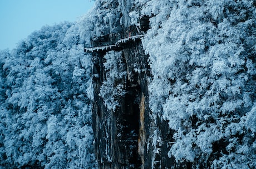
<svg viewBox="0 0 256 169">
<path fill-rule="evenodd" d="M 122 48 L 122 46 L 125 43 L 129 43 L 131 41 L 135 42 L 135 40 L 141 39 L 145 36 L 146 36 L 146 34 L 135 35 L 135 36 L 132 36 L 132 37 L 127 37 L 127 38 L 124 38 L 124 39 L 120 39 L 115 44 L 112 44 L 112 45 L 106 45 L 106 46 L 102 46 L 102 47 L 85 48 L 84 51 L 87 52 L 87 53 L 92 53 L 92 52 L 100 52 L 100 51 L 104 51 L 104 50 L 107 50 L 107 51 L 108 50 L 119 50 L 119 49 Z"/>
</svg>

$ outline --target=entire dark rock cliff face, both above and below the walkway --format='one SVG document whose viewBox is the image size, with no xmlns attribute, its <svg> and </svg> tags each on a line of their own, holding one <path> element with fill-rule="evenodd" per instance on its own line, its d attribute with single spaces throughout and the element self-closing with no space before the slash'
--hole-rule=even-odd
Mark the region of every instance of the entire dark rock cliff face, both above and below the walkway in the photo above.
<svg viewBox="0 0 256 169">
<path fill-rule="evenodd" d="M 124 18 L 123 18 L 124 19 Z M 113 34 L 97 38 L 95 46 L 114 44 L 120 38 L 145 34 L 149 29 L 149 17 L 141 18 L 140 30 L 136 25 L 124 25 L 118 37 Z M 126 39 L 126 38 L 125 38 Z M 106 42 L 107 41 L 107 42 Z M 91 50 L 93 55 L 92 80 L 94 103 L 92 109 L 93 130 L 95 133 L 95 154 L 99 168 L 190 168 L 187 163 L 178 165 L 174 158 L 168 157 L 172 133 L 168 121 L 152 117 L 149 108 L 148 85 L 151 68 L 149 55 L 145 54 L 141 39 L 123 42 L 117 48 L 99 48 Z M 119 55 L 109 58 L 106 55 Z M 106 65 L 119 62 L 118 68 Z M 116 69 L 116 70 L 115 70 Z M 110 79 L 110 71 L 122 71 L 122 77 Z M 112 72 L 116 74 L 116 72 Z M 115 90 L 122 86 L 125 94 L 113 94 L 102 91 L 102 86 Z M 111 98 L 111 99 L 109 99 Z M 118 105 L 110 104 L 114 101 Z M 115 105 L 114 109 L 111 106 Z"/>
</svg>

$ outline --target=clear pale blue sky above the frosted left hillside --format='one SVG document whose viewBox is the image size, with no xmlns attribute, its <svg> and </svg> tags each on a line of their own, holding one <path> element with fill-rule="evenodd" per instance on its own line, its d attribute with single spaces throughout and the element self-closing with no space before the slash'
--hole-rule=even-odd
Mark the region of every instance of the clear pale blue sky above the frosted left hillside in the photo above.
<svg viewBox="0 0 256 169">
<path fill-rule="evenodd" d="M 0 50 L 13 49 L 43 25 L 76 21 L 92 6 L 91 0 L 0 0 Z"/>
</svg>

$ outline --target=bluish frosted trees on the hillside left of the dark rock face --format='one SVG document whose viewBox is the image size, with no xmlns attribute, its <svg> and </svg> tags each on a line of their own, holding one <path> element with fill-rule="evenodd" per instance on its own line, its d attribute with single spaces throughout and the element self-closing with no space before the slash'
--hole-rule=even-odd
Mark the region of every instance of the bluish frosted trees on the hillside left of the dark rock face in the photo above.
<svg viewBox="0 0 256 169">
<path fill-rule="evenodd" d="M 96 168 L 84 22 L 45 26 L 0 53 L 0 168 Z"/>
</svg>

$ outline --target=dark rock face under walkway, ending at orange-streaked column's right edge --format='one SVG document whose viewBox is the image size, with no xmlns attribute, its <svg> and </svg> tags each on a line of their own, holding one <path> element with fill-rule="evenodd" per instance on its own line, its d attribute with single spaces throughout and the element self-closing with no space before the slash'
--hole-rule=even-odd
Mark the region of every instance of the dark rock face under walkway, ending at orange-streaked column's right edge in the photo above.
<svg viewBox="0 0 256 169">
<path fill-rule="evenodd" d="M 118 98 L 120 106 L 109 110 L 100 97 L 101 85 L 106 80 L 104 55 L 106 51 L 93 53 L 93 129 L 95 130 L 96 157 L 99 168 L 140 168 L 145 163 L 146 130 L 149 120 L 147 105 L 147 80 L 150 69 L 147 55 L 140 40 L 129 43 L 121 50 L 126 68 L 124 79 L 115 86 L 124 85 L 125 95 Z M 148 133 L 147 133 L 148 135 Z"/>
</svg>

